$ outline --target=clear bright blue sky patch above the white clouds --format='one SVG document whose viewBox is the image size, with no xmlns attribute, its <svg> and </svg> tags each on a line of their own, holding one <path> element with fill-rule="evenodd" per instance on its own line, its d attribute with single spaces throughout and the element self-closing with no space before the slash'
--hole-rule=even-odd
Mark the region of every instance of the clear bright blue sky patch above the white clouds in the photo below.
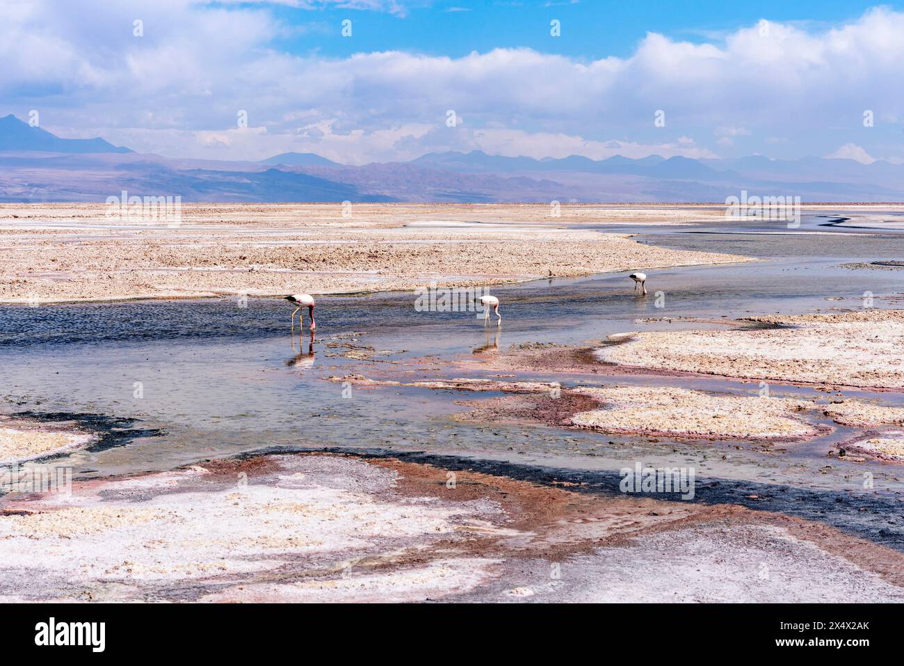
<svg viewBox="0 0 904 666">
<path fill-rule="evenodd" d="M 856 19 L 875 5 L 860 0 L 449 0 L 404 3 L 400 5 L 403 10 L 396 12 L 334 4 L 319 5 L 313 11 L 277 5 L 275 14 L 287 24 L 306 26 L 305 34 L 279 41 L 289 52 L 343 57 L 357 51 L 404 50 L 457 57 L 472 51 L 522 46 L 597 60 L 630 55 L 650 32 L 703 43 L 764 18 L 810 28 L 827 27 Z M 353 40 L 340 34 L 346 18 L 353 21 Z M 558 39 L 550 35 L 552 19 L 562 25 Z"/>
</svg>

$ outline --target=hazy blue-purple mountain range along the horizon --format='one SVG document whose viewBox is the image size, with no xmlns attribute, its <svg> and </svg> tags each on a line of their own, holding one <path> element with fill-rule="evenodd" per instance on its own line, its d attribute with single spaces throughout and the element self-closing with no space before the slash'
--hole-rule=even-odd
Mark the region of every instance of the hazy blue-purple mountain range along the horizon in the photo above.
<svg viewBox="0 0 904 666">
<path fill-rule="evenodd" d="M 0 118 L 0 202 L 180 195 L 184 202 L 724 202 L 750 195 L 804 202 L 904 201 L 904 166 L 762 156 L 534 159 L 447 151 L 346 166 L 315 153 L 259 162 L 143 155 L 102 138 L 59 138 Z"/>
</svg>

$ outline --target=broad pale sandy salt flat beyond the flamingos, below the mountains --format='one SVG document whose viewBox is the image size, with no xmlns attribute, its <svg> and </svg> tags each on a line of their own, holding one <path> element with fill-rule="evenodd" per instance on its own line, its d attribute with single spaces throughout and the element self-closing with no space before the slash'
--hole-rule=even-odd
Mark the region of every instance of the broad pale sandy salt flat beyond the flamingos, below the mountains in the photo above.
<svg viewBox="0 0 904 666">
<path fill-rule="evenodd" d="M 564 224 L 685 224 L 707 207 L 185 205 L 178 224 L 103 205 L 0 205 L 0 303 L 278 296 L 487 286 L 747 262 Z M 540 251 L 538 251 L 540 250 Z"/>
</svg>

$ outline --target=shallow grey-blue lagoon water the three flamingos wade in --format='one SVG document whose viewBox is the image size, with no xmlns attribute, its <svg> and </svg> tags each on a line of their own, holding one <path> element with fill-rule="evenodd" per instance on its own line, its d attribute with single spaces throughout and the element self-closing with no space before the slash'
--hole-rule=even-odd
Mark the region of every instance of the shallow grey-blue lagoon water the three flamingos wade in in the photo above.
<svg viewBox="0 0 904 666">
<path fill-rule="evenodd" d="M 851 518 L 844 511 L 850 508 L 836 507 L 838 497 L 879 502 L 879 509 L 864 510 L 857 524 L 872 538 L 896 547 L 904 544 L 904 536 L 895 531 L 900 528 L 892 536 L 880 535 L 890 519 L 882 507 L 892 506 L 883 502 L 899 502 L 904 490 L 902 468 L 825 457 L 833 443 L 856 432 L 851 429 L 836 428 L 815 442 L 776 444 L 764 450 L 750 442 L 468 424 L 451 419 L 464 409 L 454 401 L 480 395 L 414 387 L 349 390 L 323 379 L 353 373 L 381 376 L 387 370 L 412 370 L 412 379 L 462 376 L 464 371 L 450 369 L 448 361 L 474 357 L 475 350 L 495 346 L 504 353 L 511 345 L 537 341 L 580 344 L 663 326 L 640 324 L 638 318 L 730 319 L 752 313 L 858 308 L 867 292 L 877 307 L 894 307 L 899 297 L 904 272 L 852 271 L 840 264 L 900 258 L 902 235 L 739 236 L 687 231 L 683 226 L 641 240 L 771 259 L 651 269 L 645 299 L 634 297 L 633 283 L 624 274 L 494 288 L 503 302 L 501 330 L 485 329 L 473 312 L 415 312 L 411 293 L 323 297 L 318 299 L 313 347 L 309 334 L 297 326 L 290 335 L 291 307 L 278 299 L 250 298 L 247 307 L 235 299 L 0 307 L 4 378 L 0 404 L 5 414 L 43 414 L 117 433 L 104 445 L 54 463 L 71 464 L 82 477 L 165 470 L 274 446 L 424 452 L 603 477 L 643 461 L 653 466 L 693 466 L 702 488 L 713 480 L 737 482 L 737 501 L 751 506 L 757 501 L 744 499 L 743 489 L 759 496 L 764 487 L 815 492 L 825 507 L 809 499 L 806 511 L 848 528 Z M 656 307 L 657 300 L 663 307 Z M 354 332 L 361 335 L 349 337 Z M 372 360 L 344 357 L 345 352 L 356 351 L 351 346 L 369 346 L 380 353 Z M 428 355 L 436 355 L 432 365 L 411 365 L 411 359 Z M 577 381 L 536 373 L 519 376 L 561 380 L 565 385 Z M 717 378 L 637 376 L 617 381 L 749 395 L 756 395 L 759 388 L 756 383 Z M 812 388 L 776 383 L 770 384 L 770 392 L 826 396 Z M 904 404 L 904 395 L 898 393 L 845 395 Z M 871 490 L 863 488 L 866 471 L 874 477 Z M 789 512 L 803 510 L 800 499 L 777 506 Z"/>
</svg>

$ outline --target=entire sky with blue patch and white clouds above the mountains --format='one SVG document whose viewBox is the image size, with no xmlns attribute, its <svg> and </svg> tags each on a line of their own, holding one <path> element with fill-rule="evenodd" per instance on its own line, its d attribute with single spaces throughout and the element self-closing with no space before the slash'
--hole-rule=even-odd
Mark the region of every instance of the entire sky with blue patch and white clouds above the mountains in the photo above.
<svg viewBox="0 0 904 666">
<path fill-rule="evenodd" d="M 0 113 L 207 159 L 901 161 L 902 34 L 854 0 L 4 0 Z"/>
</svg>

